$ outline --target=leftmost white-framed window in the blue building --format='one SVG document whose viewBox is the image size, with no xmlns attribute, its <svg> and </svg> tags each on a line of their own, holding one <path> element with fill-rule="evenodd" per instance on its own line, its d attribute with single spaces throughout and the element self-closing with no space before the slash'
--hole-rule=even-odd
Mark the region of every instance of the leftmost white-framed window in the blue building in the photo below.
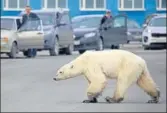
<svg viewBox="0 0 167 113">
<path fill-rule="evenodd" d="M 29 5 L 29 0 L 3 0 L 5 10 L 23 10 Z"/>
</svg>

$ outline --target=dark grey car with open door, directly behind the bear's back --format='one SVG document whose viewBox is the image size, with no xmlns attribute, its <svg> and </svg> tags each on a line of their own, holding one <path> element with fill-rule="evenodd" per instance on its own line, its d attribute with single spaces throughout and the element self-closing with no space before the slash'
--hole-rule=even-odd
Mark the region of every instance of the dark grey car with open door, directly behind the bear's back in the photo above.
<svg viewBox="0 0 167 113">
<path fill-rule="evenodd" d="M 108 19 L 102 26 L 103 15 L 82 15 L 72 19 L 75 41 L 74 50 L 80 54 L 86 50 L 103 50 L 119 48 L 119 44 L 127 43 L 127 17 L 117 15 Z M 117 24 L 120 24 L 117 26 Z"/>
</svg>

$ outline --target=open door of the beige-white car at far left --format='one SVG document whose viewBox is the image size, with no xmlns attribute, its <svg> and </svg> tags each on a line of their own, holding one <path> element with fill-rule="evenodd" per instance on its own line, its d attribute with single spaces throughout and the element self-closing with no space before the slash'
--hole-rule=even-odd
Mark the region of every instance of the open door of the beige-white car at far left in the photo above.
<svg viewBox="0 0 167 113">
<path fill-rule="evenodd" d="M 19 49 L 44 47 L 44 32 L 41 20 L 30 20 L 20 27 L 17 32 Z"/>
</svg>

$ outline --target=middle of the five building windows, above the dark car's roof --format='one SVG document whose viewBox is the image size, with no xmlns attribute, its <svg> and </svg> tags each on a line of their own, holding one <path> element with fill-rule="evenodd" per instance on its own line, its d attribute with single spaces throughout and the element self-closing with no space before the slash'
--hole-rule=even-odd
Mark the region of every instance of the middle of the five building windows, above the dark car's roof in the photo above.
<svg viewBox="0 0 167 113">
<path fill-rule="evenodd" d="M 80 0 L 80 10 L 105 10 L 106 0 Z"/>
</svg>

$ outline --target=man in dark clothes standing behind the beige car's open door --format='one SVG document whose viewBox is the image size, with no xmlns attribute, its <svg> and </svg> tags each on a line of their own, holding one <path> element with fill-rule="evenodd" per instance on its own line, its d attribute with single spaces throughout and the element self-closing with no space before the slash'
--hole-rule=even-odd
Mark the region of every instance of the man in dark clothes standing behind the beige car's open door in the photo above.
<svg viewBox="0 0 167 113">
<path fill-rule="evenodd" d="M 22 16 L 22 24 L 25 24 L 28 20 L 38 20 L 39 17 L 35 14 L 31 12 L 31 7 L 30 6 L 26 6 L 25 7 L 25 12 L 26 14 L 24 14 Z M 37 50 L 36 49 L 28 49 L 27 51 L 27 56 L 28 57 L 35 57 L 37 54 Z"/>
</svg>

